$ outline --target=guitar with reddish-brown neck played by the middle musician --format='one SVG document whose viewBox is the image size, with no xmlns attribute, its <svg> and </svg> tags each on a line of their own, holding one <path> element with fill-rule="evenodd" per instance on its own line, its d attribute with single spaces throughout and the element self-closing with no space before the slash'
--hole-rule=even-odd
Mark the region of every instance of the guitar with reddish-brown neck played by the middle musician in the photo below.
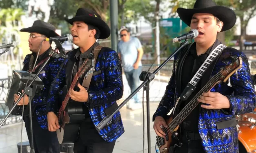
<svg viewBox="0 0 256 153">
<path fill-rule="evenodd" d="M 83 114 L 82 111 L 82 105 L 84 105 L 84 103 L 71 100 L 69 92 L 71 89 L 74 89 L 74 87 L 77 87 L 80 79 L 86 74 L 85 72 L 90 70 L 91 66 L 86 66 L 87 61 L 88 59 L 85 60 L 78 69 L 69 89 L 67 85 L 63 87 L 63 95 L 66 96 L 58 111 L 60 129 L 56 131 L 60 144 L 74 143 L 78 138 L 80 122 L 85 119 L 85 114 Z"/>
</svg>

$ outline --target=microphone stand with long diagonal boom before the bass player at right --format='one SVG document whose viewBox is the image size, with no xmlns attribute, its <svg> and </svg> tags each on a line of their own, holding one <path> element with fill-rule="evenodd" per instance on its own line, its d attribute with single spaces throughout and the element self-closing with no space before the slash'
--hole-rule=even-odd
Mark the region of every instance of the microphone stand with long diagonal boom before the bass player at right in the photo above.
<svg viewBox="0 0 256 153">
<path fill-rule="evenodd" d="M 145 85 L 144 89 L 146 90 L 146 99 L 147 99 L 147 146 L 148 153 L 151 152 L 151 144 L 150 144 L 150 113 L 149 113 L 149 83 L 155 78 L 155 74 L 165 66 L 165 64 L 171 60 L 174 55 L 180 51 L 185 45 L 188 44 L 188 40 L 185 40 L 153 73 L 150 72 L 141 72 L 140 81 L 144 81 L 141 85 L 129 95 L 125 101 L 123 101 L 111 114 L 106 116 L 97 126 L 97 131 L 100 131 L 107 123 L 112 119 L 112 117 Z"/>
</svg>

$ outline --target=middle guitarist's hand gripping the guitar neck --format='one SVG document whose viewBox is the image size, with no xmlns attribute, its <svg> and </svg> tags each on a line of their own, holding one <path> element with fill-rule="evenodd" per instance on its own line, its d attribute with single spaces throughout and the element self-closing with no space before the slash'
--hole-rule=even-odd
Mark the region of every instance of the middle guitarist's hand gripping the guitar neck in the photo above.
<svg viewBox="0 0 256 153">
<path fill-rule="evenodd" d="M 83 87 L 82 85 L 80 85 L 80 83 L 78 83 L 77 87 L 79 87 L 79 92 L 76 92 L 75 90 L 71 89 L 69 92 L 69 96 L 73 101 L 78 101 L 78 102 L 87 102 L 88 101 L 88 92 L 85 89 L 85 87 Z"/>
</svg>

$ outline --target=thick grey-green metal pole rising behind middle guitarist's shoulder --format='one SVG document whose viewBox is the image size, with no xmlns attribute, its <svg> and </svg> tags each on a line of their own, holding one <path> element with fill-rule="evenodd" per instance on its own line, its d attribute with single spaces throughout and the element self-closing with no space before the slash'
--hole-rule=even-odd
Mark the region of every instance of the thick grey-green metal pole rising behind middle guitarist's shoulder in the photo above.
<svg viewBox="0 0 256 153">
<path fill-rule="evenodd" d="M 117 51 L 118 0 L 110 0 L 111 48 Z"/>
</svg>

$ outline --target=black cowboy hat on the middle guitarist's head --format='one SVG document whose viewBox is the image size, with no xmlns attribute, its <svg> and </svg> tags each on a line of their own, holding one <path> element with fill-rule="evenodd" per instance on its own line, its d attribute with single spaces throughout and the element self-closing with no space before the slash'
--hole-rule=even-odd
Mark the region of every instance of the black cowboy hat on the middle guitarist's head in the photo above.
<svg viewBox="0 0 256 153">
<path fill-rule="evenodd" d="M 65 18 L 65 20 L 69 22 L 69 24 L 73 24 L 73 22 L 75 21 L 82 21 L 82 22 L 85 22 L 86 24 L 96 26 L 100 30 L 99 39 L 106 39 L 107 37 L 110 36 L 110 28 L 107 25 L 107 23 L 101 19 L 101 16 L 98 13 L 96 13 L 91 9 L 79 8 L 76 11 L 75 17 L 71 19 Z"/>
</svg>

